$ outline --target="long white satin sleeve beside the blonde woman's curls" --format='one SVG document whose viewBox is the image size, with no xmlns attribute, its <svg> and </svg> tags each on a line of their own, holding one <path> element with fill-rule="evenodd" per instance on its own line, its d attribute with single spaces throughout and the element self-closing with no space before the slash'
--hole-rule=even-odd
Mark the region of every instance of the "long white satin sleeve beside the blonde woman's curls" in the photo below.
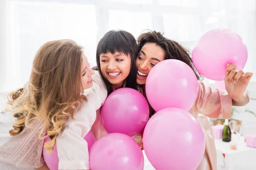
<svg viewBox="0 0 256 170">
<path fill-rule="evenodd" d="M 107 90 L 99 73 L 95 71 L 93 87 L 87 91 L 83 108 L 68 120 L 64 130 L 56 139 L 61 170 L 89 170 L 89 152 L 84 136 L 91 130 L 98 110 L 107 98 Z"/>
</svg>

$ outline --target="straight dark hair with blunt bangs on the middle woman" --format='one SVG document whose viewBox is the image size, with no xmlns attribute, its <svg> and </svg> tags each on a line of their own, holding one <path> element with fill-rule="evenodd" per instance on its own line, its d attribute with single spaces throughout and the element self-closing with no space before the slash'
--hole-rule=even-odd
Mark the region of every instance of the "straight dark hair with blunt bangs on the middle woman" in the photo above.
<svg viewBox="0 0 256 170">
<path fill-rule="evenodd" d="M 102 39 L 99 41 L 99 43 L 97 45 L 97 51 L 96 51 L 97 69 L 99 71 L 99 74 L 102 77 L 102 80 L 107 88 L 108 95 L 109 95 L 113 91 L 113 85 L 110 82 L 108 82 L 108 79 L 106 79 L 103 76 L 102 71 L 100 69 L 100 62 L 99 62 L 100 55 L 106 54 L 108 52 L 110 52 L 111 54 L 114 54 L 115 52 L 120 52 L 125 55 L 130 54 L 131 70 L 130 70 L 128 77 L 125 79 L 125 82 L 126 82 L 125 87 L 137 89 L 137 84 L 136 84 L 137 42 L 136 42 L 134 36 L 127 31 L 111 30 L 111 31 L 108 31 L 102 37 Z"/>
</svg>

